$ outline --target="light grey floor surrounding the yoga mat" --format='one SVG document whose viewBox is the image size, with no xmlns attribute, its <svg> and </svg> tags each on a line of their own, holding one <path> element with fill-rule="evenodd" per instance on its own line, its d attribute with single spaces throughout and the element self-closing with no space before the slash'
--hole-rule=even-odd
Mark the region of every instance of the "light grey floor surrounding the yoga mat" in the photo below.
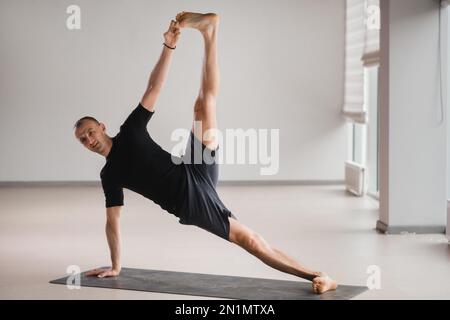
<svg viewBox="0 0 450 320">
<path fill-rule="evenodd" d="M 381 289 L 356 299 L 450 299 L 444 235 L 378 234 L 378 203 L 369 197 L 340 185 L 218 190 L 241 222 L 342 284 L 365 285 L 369 266 L 378 266 Z M 125 202 L 123 266 L 295 280 L 137 194 L 126 190 Z M 0 299 L 202 299 L 49 284 L 69 265 L 109 264 L 103 203 L 97 187 L 0 188 Z"/>
</svg>

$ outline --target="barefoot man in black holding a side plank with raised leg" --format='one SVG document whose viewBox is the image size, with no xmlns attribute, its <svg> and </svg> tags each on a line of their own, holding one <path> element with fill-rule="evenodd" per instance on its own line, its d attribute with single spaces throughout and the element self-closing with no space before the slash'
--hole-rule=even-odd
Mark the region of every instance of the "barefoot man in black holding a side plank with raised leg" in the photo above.
<svg viewBox="0 0 450 320">
<path fill-rule="evenodd" d="M 186 153 L 177 159 L 153 141 L 146 127 L 154 115 L 182 28 L 198 30 L 203 36 L 205 51 L 201 87 L 194 104 L 194 125 Z M 153 200 L 177 216 L 180 223 L 203 228 L 239 245 L 275 269 L 312 281 L 316 293 L 334 290 L 337 287 L 334 280 L 301 266 L 269 246 L 259 234 L 238 222 L 219 199 L 216 192 L 218 164 L 215 162 L 219 146 L 214 135 L 206 134 L 216 129 L 218 30 L 219 17 L 216 14 L 179 13 L 164 33 L 162 53 L 150 74 L 147 90 L 120 127 L 120 132 L 111 138 L 106 134 L 105 125 L 94 118 L 84 117 L 77 121 L 77 139 L 89 150 L 106 158 L 101 180 L 106 198 L 106 236 L 112 266 L 107 270 L 92 270 L 89 275 L 110 277 L 120 273 L 119 217 L 123 207 L 123 188 L 127 188 Z M 200 128 L 197 123 L 201 123 Z M 195 150 L 200 150 L 206 159 L 202 157 L 200 163 L 193 160 Z"/>
</svg>

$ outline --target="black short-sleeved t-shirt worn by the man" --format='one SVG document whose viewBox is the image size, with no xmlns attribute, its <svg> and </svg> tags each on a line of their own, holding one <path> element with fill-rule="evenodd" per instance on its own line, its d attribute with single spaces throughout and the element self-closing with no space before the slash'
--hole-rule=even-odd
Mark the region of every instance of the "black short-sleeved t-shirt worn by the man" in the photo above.
<svg viewBox="0 0 450 320">
<path fill-rule="evenodd" d="M 148 133 L 153 114 L 139 103 L 112 138 L 111 151 L 100 172 L 106 207 L 122 206 L 126 188 L 178 216 L 186 192 L 186 170 Z"/>
</svg>

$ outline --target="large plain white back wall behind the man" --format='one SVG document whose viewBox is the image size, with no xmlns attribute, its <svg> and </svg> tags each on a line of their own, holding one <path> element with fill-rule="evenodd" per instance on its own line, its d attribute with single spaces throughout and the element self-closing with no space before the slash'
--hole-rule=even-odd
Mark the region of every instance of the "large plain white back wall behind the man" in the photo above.
<svg viewBox="0 0 450 320">
<path fill-rule="evenodd" d="M 82 29 L 66 29 L 81 7 Z M 0 2 L 0 181 L 98 180 L 104 158 L 82 149 L 74 121 L 93 115 L 115 135 L 137 105 L 170 19 L 221 14 L 219 127 L 279 128 L 280 169 L 222 165 L 222 180 L 342 180 L 344 1 Z M 201 36 L 183 31 L 149 131 L 163 148 L 189 129 Z"/>
</svg>

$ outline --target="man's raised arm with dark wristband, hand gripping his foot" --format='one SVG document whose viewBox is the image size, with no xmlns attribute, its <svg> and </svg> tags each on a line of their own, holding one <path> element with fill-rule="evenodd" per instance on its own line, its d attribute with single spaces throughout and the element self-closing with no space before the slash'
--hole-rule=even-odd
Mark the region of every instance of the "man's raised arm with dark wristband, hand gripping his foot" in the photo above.
<svg viewBox="0 0 450 320">
<path fill-rule="evenodd" d="M 179 37 L 180 28 L 178 22 L 172 20 L 169 29 L 164 33 L 164 43 L 169 47 L 175 48 Z M 156 101 L 166 81 L 172 61 L 174 49 L 170 49 L 167 46 L 163 46 L 161 56 L 150 74 L 147 89 L 141 99 L 141 105 L 151 112 L 155 109 Z"/>
</svg>

